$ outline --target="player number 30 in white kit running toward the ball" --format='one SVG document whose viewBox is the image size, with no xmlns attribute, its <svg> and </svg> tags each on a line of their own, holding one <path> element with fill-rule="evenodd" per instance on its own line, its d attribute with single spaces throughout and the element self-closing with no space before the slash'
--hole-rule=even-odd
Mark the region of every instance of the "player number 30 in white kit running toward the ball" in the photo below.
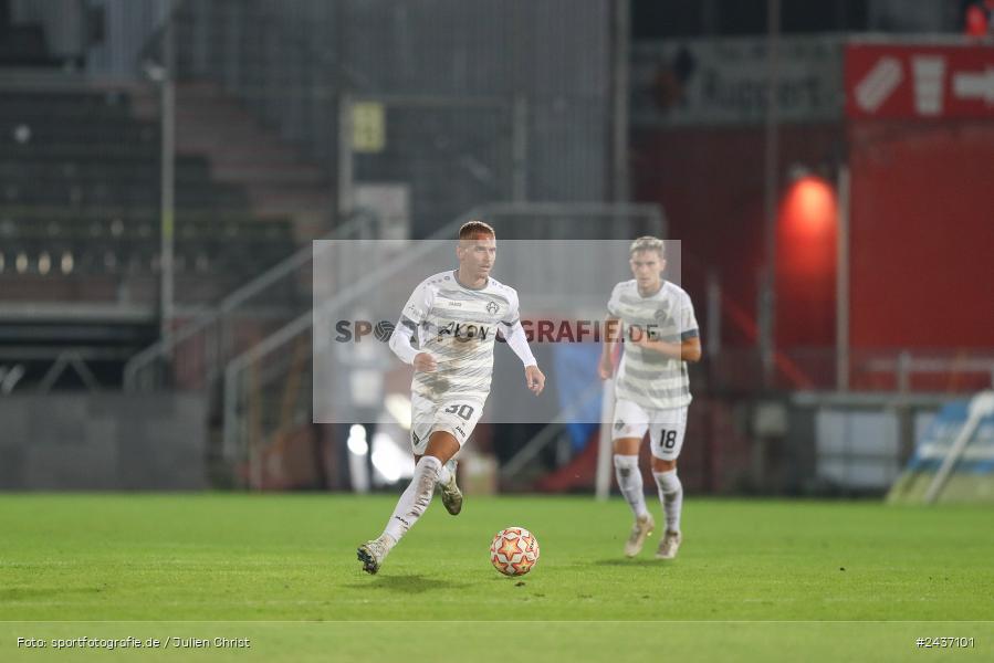
<svg viewBox="0 0 994 663">
<path fill-rule="evenodd" d="M 498 327 L 524 364 L 527 388 L 537 396 L 545 387 L 519 319 L 517 292 L 490 276 L 496 259 L 493 228 L 482 221 L 463 224 L 456 256 L 459 269 L 429 276 L 415 288 L 390 336 L 390 349 L 415 368 L 410 439 L 416 464 L 383 534 L 358 548 L 368 573 L 379 570 L 418 522 L 436 486 L 450 514 L 462 509 L 453 456 L 483 413 Z M 411 347 L 415 334 L 417 349 Z"/>
</svg>

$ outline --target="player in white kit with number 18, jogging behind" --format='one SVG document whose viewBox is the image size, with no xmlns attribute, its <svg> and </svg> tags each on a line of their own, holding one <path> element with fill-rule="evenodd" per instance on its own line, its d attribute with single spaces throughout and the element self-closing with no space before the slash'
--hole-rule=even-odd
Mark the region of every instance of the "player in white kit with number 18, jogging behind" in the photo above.
<svg viewBox="0 0 994 663">
<path fill-rule="evenodd" d="M 615 379 L 611 430 L 615 476 L 635 515 L 625 555 L 638 555 L 656 527 L 646 508 L 638 466 L 639 446 L 648 430 L 652 475 L 666 517 L 666 533 L 656 557 L 672 559 L 682 541 L 683 487 L 677 476 L 677 456 L 683 445 L 691 400 L 687 361 L 700 360 L 701 339 L 690 296 L 662 278 L 665 251 L 662 240 L 657 238 L 639 238 L 631 243 L 629 266 L 635 278 L 622 281 L 611 291 L 605 328 L 614 333 L 606 336 L 599 372 L 601 379 L 611 377 L 614 344 L 624 343 Z"/>
</svg>

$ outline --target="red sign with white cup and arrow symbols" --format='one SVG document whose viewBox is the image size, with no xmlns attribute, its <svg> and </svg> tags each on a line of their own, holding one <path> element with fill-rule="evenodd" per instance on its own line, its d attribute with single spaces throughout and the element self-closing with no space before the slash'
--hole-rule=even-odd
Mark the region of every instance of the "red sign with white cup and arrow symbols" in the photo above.
<svg viewBox="0 0 994 663">
<path fill-rule="evenodd" d="M 994 118 L 994 46 L 848 44 L 850 118 Z"/>
</svg>

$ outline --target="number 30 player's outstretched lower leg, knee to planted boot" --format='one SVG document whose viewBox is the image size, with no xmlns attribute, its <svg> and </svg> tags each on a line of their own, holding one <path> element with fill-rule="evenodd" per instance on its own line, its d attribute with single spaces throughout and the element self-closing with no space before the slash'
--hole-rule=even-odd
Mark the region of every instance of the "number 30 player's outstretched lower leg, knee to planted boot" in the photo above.
<svg viewBox="0 0 994 663">
<path fill-rule="evenodd" d="M 394 513 L 390 514 L 390 519 L 387 520 L 383 534 L 359 546 L 358 558 L 363 562 L 364 571 L 368 573 L 378 571 L 394 546 L 428 511 L 431 496 L 435 494 L 439 471 L 458 451 L 459 442 L 456 441 L 452 433 L 448 431 L 431 433 L 425 454 L 415 465 L 415 475 L 404 493 L 400 494 L 400 499 L 397 501 L 397 506 L 394 507 Z"/>
</svg>

